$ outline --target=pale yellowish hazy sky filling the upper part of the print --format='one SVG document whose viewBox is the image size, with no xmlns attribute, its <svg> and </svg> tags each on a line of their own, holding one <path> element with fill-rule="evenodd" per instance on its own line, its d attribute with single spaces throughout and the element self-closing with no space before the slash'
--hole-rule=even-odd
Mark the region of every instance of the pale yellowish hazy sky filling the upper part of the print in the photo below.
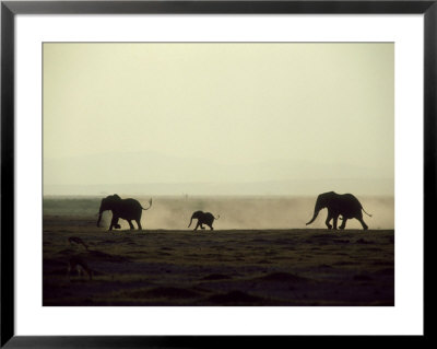
<svg viewBox="0 0 437 349">
<path fill-rule="evenodd" d="M 46 185 L 392 181 L 394 45 L 46 43 L 44 161 Z"/>
</svg>

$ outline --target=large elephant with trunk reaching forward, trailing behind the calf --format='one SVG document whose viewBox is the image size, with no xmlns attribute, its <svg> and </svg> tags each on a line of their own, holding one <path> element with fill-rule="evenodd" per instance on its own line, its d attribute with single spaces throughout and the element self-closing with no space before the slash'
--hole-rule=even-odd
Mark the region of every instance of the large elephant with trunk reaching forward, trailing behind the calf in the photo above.
<svg viewBox="0 0 437 349">
<path fill-rule="evenodd" d="M 371 217 L 371 214 L 364 210 L 362 203 L 352 194 L 336 194 L 334 191 L 320 194 L 317 197 L 312 219 L 306 225 L 311 224 L 317 218 L 317 214 L 319 214 L 319 211 L 323 208 L 328 209 L 328 217 L 326 220 L 328 229 L 333 228 L 336 230 L 336 221 L 340 216 L 343 220 L 342 224 L 339 226 L 340 229 L 344 229 L 346 226 L 346 221 L 352 218 L 356 218 L 359 223 L 362 223 L 364 230 L 368 229 L 363 220 L 362 211 L 369 217 Z M 333 220 L 333 225 L 330 224 L 331 219 Z"/>
</svg>

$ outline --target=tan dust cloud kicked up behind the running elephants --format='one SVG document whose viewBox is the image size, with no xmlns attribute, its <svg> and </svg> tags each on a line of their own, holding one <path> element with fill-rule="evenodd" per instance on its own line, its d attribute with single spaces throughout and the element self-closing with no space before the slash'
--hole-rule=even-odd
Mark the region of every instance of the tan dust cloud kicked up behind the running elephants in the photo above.
<svg viewBox="0 0 437 349">
<path fill-rule="evenodd" d="M 123 197 L 123 196 L 122 196 Z M 149 207 L 150 197 L 137 198 L 143 207 Z M 369 229 L 394 229 L 393 197 L 358 197 L 365 213 L 364 221 Z M 141 224 L 145 230 L 187 230 L 192 212 L 202 210 L 218 217 L 213 223 L 214 230 L 262 230 L 262 229 L 324 229 L 327 210 L 319 212 L 316 221 L 305 225 L 314 213 L 316 197 L 153 197 L 153 206 L 143 211 Z M 98 210 L 98 206 L 95 211 Z M 107 226 L 110 212 L 104 213 Z M 105 222 L 106 221 L 106 222 Z M 189 229 L 196 226 L 193 220 Z M 129 229 L 120 220 L 122 229 Z M 340 224 L 340 222 L 339 222 Z M 346 229 L 362 229 L 361 223 L 347 220 Z M 209 228 L 206 226 L 206 230 Z"/>
</svg>

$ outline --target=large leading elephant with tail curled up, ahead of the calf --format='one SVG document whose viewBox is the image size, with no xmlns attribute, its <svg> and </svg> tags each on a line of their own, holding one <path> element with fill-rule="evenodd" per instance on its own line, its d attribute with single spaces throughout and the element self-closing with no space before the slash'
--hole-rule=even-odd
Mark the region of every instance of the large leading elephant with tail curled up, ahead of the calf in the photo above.
<svg viewBox="0 0 437 349">
<path fill-rule="evenodd" d="M 145 209 L 135 199 L 121 199 L 117 194 L 109 195 L 102 199 L 101 209 L 98 210 L 97 226 L 99 226 L 103 211 L 110 210 L 113 212 L 113 219 L 108 230 L 121 228 L 120 224 L 118 224 L 119 218 L 127 220 L 131 230 L 134 229 L 132 224 L 132 220 L 134 220 L 138 224 L 138 229 L 142 230 L 142 210 L 149 210 L 152 207 L 152 199 L 150 199 L 149 205 L 150 206 Z"/>
</svg>

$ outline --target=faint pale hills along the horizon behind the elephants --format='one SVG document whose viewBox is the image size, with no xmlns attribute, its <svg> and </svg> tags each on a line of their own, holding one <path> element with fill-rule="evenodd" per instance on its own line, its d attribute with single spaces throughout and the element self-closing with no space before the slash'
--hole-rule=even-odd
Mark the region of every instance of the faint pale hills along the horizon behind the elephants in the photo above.
<svg viewBox="0 0 437 349">
<path fill-rule="evenodd" d="M 389 168 L 272 160 L 224 164 L 154 152 L 44 159 L 45 195 L 393 195 Z"/>
</svg>

